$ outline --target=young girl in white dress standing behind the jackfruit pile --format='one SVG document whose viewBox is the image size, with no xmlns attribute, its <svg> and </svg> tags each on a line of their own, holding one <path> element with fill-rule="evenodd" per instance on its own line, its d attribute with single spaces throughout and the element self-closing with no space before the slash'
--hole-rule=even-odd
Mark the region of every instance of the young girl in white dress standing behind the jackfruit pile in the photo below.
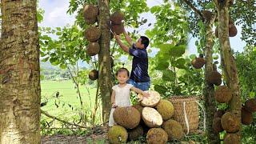
<svg viewBox="0 0 256 144">
<path fill-rule="evenodd" d="M 114 122 L 113 113 L 117 106 L 125 107 L 132 106 L 130 102 L 130 90 L 135 91 L 138 94 L 142 94 L 144 97 L 149 97 L 150 95 L 138 88 L 134 87 L 131 84 L 126 83 L 129 79 L 129 71 L 122 67 L 117 71 L 116 74 L 118 78 L 118 85 L 112 87 L 113 91 L 111 94 L 111 104 L 112 109 L 110 111 L 110 119 L 109 126 L 114 126 L 116 123 Z"/>
</svg>

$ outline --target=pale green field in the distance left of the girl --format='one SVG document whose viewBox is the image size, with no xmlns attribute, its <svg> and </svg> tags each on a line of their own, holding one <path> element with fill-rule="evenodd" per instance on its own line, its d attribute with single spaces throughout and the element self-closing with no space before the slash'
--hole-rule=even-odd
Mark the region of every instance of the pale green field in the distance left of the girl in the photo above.
<svg viewBox="0 0 256 144">
<path fill-rule="evenodd" d="M 86 90 L 86 87 L 88 90 Z M 42 81 L 42 102 L 48 103 L 42 107 L 49 114 L 55 117 L 64 118 L 72 122 L 72 118 L 78 118 L 80 101 L 77 90 L 74 89 L 74 83 L 71 80 L 66 81 Z M 94 108 L 96 87 L 80 86 L 82 94 L 83 112 L 90 115 Z M 59 93 L 58 98 L 56 94 Z M 58 108 L 57 108 L 58 107 Z M 73 107 L 73 110 L 72 110 Z M 98 110 L 98 115 L 101 110 Z"/>
</svg>

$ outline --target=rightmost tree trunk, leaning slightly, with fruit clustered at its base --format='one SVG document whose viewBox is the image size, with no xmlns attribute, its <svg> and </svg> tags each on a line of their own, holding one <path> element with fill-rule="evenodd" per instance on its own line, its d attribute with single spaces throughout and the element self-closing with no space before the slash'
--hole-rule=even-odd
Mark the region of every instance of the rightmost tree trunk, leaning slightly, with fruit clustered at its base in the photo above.
<svg viewBox="0 0 256 144">
<path fill-rule="evenodd" d="M 218 3 L 214 0 L 218 8 L 218 37 L 220 42 L 220 53 L 222 59 L 222 68 L 225 74 L 227 86 L 233 92 L 230 100 L 230 112 L 236 114 L 241 123 L 241 98 L 239 89 L 238 70 L 234 62 L 234 56 L 231 53 L 229 39 L 229 1 Z M 241 124 L 240 124 L 241 127 Z M 238 132 L 239 141 L 241 142 L 241 130 Z"/>
</svg>

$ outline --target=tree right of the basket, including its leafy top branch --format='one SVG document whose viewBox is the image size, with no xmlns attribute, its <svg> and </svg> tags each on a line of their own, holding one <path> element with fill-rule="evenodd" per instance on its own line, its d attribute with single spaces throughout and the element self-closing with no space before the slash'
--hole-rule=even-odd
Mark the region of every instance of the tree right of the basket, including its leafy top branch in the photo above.
<svg viewBox="0 0 256 144">
<path fill-rule="evenodd" d="M 213 71 L 213 46 L 214 46 L 214 35 L 213 35 L 213 26 L 216 16 L 211 13 L 206 15 L 203 14 L 202 10 L 205 10 L 206 7 L 210 8 L 212 11 L 214 7 L 210 5 L 209 2 L 191 2 L 190 0 L 182 0 L 182 2 L 186 3 L 190 9 L 189 13 L 193 15 L 190 17 L 190 26 L 198 25 L 197 29 L 191 30 L 191 33 L 194 35 L 198 35 L 198 38 L 201 38 L 199 44 L 199 52 L 202 51 L 205 54 L 206 65 L 205 65 L 205 80 L 209 77 L 210 73 Z M 201 7 L 202 10 L 199 10 L 198 7 Z M 207 17 L 207 18 L 206 18 Z M 201 33 L 200 33 L 201 32 Z M 207 141 L 209 143 L 219 143 L 219 134 L 214 134 L 213 130 L 213 119 L 214 113 L 216 111 L 215 100 L 214 100 L 214 85 L 206 82 L 204 85 L 204 100 L 206 107 L 206 134 Z"/>
</svg>

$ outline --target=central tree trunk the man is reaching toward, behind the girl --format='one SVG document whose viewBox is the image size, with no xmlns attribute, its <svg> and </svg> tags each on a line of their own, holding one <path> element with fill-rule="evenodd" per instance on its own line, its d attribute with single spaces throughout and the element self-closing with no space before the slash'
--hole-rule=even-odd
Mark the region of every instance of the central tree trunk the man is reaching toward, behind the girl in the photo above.
<svg viewBox="0 0 256 144">
<path fill-rule="evenodd" d="M 110 0 L 98 0 L 99 28 L 102 36 L 99 40 L 101 50 L 98 54 L 99 86 L 102 98 L 102 118 L 107 122 L 110 116 L 110 98 L 112 91 L 112 74 L 110 63 Z"/>
</svg>

